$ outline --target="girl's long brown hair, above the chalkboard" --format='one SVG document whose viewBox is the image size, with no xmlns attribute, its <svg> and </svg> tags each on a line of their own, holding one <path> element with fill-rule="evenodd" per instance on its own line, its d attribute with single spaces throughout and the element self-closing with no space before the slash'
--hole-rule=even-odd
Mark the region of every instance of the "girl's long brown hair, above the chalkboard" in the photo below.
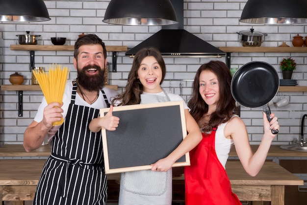
<svg viewBox="0 0 307 205">
<path fill-rule="evenodd" d="M 137 71 L 140 68 L 142 60 L 145 59 L 145 57 L 149 56 L 155 58 L 161 67 L 162 79 L 160 85 L 162 84 L 166 73 L 166 66 L 161 53 L 159 52 L 159 50 L 153 47 L 143 48 L 135 54 L 131 70 L 128 74 L 128 82 L 125 87 L 125 91 L 112 100 L 113 105 L 114 102 L 119 102 L 117 105 L 135 105 L 141 103 L 143 85 L 137 78 Z"/>
</svg>

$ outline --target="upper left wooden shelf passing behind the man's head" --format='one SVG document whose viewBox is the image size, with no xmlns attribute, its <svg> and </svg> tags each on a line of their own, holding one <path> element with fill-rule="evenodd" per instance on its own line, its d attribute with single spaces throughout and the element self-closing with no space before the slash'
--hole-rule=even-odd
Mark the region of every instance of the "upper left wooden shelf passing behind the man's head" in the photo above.
<svg viewBox="0 0 307 205">
<path fill-rule="evenodd" d="M 106 51 L 110 52 L 126 52 L 127 46 L 105 46 Z M 74 51 L 74 46 L 54 46 L 54 45 L 11 45 L 14 51 Z"/>
</svg>

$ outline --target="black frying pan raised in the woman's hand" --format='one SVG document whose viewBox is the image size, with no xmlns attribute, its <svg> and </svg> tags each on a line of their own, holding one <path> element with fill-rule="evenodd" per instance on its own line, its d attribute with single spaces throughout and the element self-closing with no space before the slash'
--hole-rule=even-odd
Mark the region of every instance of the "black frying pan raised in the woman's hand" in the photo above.
<svg viewBox="0 0 307 205">
<path fill-rule="evenodd" d="M 275 68 L 263 61 L 252 61 L 240 67 L 231 80 L 231 94 L 242 106 L 262 107 L 269 121 L 271 114 L 267 104 L 274 98 L 279 88 L 279 77 Z M 277 134 L 278 130 L 272 130 Z"/>
</svg>

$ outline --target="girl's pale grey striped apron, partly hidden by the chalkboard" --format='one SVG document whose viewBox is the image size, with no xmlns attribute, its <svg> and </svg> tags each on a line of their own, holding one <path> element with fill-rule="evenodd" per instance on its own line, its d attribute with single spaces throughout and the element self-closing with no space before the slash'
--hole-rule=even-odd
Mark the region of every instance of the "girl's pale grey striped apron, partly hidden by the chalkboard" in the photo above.
<svg viewBox="0 0 307 205">
<path fill-rule="evenodd" d="M 141 94 L 141 104 L 171 101 L 165 96 Z M 167 172 L 141 170 L 121 174 L 119 205 L 171 205 L 172 169 Z"/>
</svg>

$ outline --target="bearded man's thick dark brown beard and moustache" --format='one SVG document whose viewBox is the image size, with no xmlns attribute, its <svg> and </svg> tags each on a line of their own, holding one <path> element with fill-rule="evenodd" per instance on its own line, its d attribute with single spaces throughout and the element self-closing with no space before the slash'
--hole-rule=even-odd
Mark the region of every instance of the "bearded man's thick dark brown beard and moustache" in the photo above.
<svg viewBox="0 0 307 205">
<path fill-rule="evenodd" d="M 96 68 L 98 74 L 87 75 L 86 72 L 90 68 Z M 82 70 L 77 69 L 77 83 L 88 91 L 100 90 L 104 86 L 104 68 L 98 65 L 87 65 Z"/>
</svg>

